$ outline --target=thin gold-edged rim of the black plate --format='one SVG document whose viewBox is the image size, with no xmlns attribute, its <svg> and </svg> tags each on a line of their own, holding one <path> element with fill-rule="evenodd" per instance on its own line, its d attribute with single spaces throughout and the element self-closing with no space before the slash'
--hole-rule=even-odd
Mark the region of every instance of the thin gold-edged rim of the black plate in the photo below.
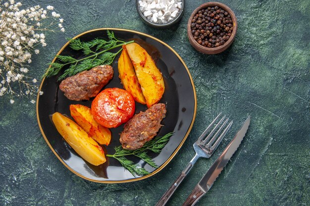
<svg viewBox="0 0 310 206">
<path fill-rule="evenodd" d="M 85 34 L 88 34 L 88 33 L 92 33 L 92 32 L 96 32 L 96 31 L 103 31 L 103 30 L 117 30 L 117 31 L 123 31 L 123 32 L 130 32 L 130 33 L 135 33 L 135 34 L 139 34 L 139 35 L 142 35 L 142 36 L 146 36 L 148 38 L 151 38 L 155 41 L 158 41 L 160 43 L 162 43 L 164 46 L 166 46 L 167 48 L 169 48 L 179 59 L 180 61 L 182 62 L 182 64 L 184 65 L 187 73 L 188 73 L 188 76 L 191 80 L 191 84 L 192 84 L 192 87 L 193 87 L 193 92 L 194 92 L 194 101 L 195 101 L 195 106 L 194 106 L 194 114 L 193 114 L 193 119 L 192 119 L 192 122 L 189 126 L 189 129 L 187 130 L 183 140 L 180 142 L 179 146 L 175 149 L 175 151 L 171 154 L 171 156 L 166 160 L 166 162 L 164 162 L 160 167 L 158 167 L 157 169 L 155 169 L 153 172 L 151 172 L 150 174 L 148 175 L 145 175 L 145 176 L 142 176 L 142 177 L 137 177 L 137 178 L 133 178 L 133 179 L 127 179 L 127 180 L 94 180 L 94 179 L 91 179 L 91 178 L 88 178 L 76 171 L 74 171 L 71 167 L 69 167 L 58 155 L 57 153 L 55 152 L 55 150 L 53 149 L 52 145 L 50 144 L 49 140 L 47 139 L 44 131 L 43 131 L 43 128 L 41 126 L 41 123 L 40 123 L 40 118 L 39 118 L 39 98 L 40 98 L 40 94 L 38 93 L 37 95 L 37 102 L 36 102 L 36 111 L 37 111 L 37 121 L 38 121 L 38 124 L 39 124 L 39 128 L 41 130 L 41 133 L 46 141 L 46 143 L 49 145 L 50 149 L 52 150 L 52 152 L 54 153 L 54 155 L 58 158 L 58 160 L 67 168 L 69 169 L 71 172 L 73 172 L 74 174 L 78 175 L 79 177 L 82 177 L 83 179 L 86 179 L 86 180 L 89 180 L 89 181 L 92 181 L 92 182 L 98 182 L 98 183 L 125 183 L 125 182 L 134 182 L 134 181 L 139 181 L 139 180 L 143 180 L 143 179 L 146 179 L 148 177 L 151 177 L 153 176 L 154 174 L 156 174 L 157 172 L 159 172 L 161 169 L 163 169 L 172 159 L 173 157 L 177 154 L 177 152 L 180 150 L 180 148 L 182 147 L 182 145 L 184 144 L 185 140 L 187 139 L 190 131 L 192 130 L 192 127 L 193 127 L 193 124 L 195 122 L 195 118 L 196 118 L 196 113 L 197 113 L 197 95 L 196 95 L 196 89 L 195 89 L 195 85 L 194 85 L 194 81 L 193 81 L 193 78 L 191 76 L 191 73 L 189 71 L 189 69 L 187 68 L 185 62 L 183 61 L 183 59 L 180 57 L 180 55 L 172 48 L 170 47 L 168 44 L 166 44 L 165 42 L 151 36 L 151 35 L 148 35 L 148 34 L 145 34 L 145 33 L 142 33 L 142 32 L 138 32 L 138 31 L 134 31 L 134 30 L 129 30 L 129 29 L 120 29 L 120 28 L 98 28 L 98 29 L 93 29 L 93 30 L 89 30 L 89 31 L 86 31 L 86 32 L 83 32 L 75 37 L 73 37 L 72 39 L 77 39 Z M 52 60 L 52 63 L 56 60 L 56 56 L 59 55 L 63 49 L 65 49 L 69 44 L 69 41 L 67 43 L 65 43 L 61 49 L 57 52 L 57 54 L 55 55 L 55 57 L 53 58 Z M 49 67 L 50 68 L 50 67 Z M 39 91 L 41 91 L 41 88 L 43 86 L 43 83 L 45 81 L 45 78 L 42 79 L 42 82 L 40 84 L 40 88 L 39 88 Z"/>
</svg>

